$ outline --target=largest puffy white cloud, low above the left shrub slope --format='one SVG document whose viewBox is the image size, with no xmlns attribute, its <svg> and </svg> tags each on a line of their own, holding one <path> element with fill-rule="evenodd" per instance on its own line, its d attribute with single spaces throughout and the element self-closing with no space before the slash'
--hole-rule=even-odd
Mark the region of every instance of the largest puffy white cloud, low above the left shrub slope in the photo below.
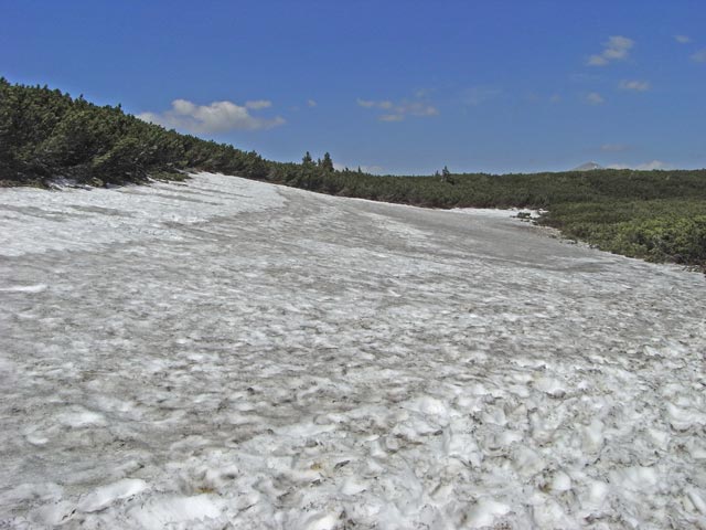
<svg viewBox="0 0 706 530">
<path fill-rule="evenodd" d="M 195 105 L 188 99 L 174 99 L 172 108 L 164 113 L 142 113 L 137 117 L 167 128 L 183 129 L 190 132 L 223 132 L 233 129 L 269 129 L 285 124 L 280 116 L 260 118 L 250 110 L 271 106 L 266 99 L 247 102 L 245 106 L 232 102 L 213 102 L 210 105 Z"/>
</svg>

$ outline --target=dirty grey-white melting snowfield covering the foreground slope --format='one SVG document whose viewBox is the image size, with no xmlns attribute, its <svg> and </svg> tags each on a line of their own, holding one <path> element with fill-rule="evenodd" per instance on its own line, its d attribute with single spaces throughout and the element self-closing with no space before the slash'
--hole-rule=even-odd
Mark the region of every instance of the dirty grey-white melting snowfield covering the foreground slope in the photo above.
<svg viewBox="0 0 706 530">
<path fill-rule="evenodd" d="M 0 190 L 0 527 L 706 527 L 704 276 L 238 178 Z"/>
</svg>

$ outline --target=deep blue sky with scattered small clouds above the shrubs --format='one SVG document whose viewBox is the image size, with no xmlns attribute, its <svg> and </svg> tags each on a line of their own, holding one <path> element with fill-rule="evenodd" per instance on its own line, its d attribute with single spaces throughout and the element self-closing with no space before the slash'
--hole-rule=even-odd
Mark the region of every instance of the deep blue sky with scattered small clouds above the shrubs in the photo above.
<svg viewBox="0 0 706 530">
<path fill-rule="evenodd" d="M 706 167 L 706 2 L 0 0 L 0 75 L 276 160 Z"/>
</svg>

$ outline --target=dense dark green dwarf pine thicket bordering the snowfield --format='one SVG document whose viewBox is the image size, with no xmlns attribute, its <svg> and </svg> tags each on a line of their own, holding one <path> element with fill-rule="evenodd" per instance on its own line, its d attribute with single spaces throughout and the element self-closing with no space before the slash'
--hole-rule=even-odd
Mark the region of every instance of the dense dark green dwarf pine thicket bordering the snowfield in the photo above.
<svg viewBox="0 0 706 530">
<path fill-rule="evenodd" d="M 90 186 L 237 174 L 344 197 L 429 208 L 548 210 L 541 223 L 601 248 L 706 266 L 706 170 L 593 170 L 534 174 L 373 176 L 336 170 L 330 153 L 300 163 L 148 124 L 120 105 L 97 106 L 46 86 L 0 78 L 0 184 Z"/>
</svg>

